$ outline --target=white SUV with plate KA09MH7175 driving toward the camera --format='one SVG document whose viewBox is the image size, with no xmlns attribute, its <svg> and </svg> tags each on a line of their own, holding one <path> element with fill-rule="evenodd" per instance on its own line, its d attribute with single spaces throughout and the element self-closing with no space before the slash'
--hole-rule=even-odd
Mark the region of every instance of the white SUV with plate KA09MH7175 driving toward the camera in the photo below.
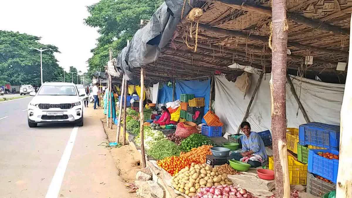
<svg viewBox="0 0 352 198">
<path fill-rule="evenodd" d="M 28 126 L 38 123 L 72 123 L 83 126 L 84 93 L 79 93 L 73 83 L 46 82 L 28 104 Z"/>
</svg>

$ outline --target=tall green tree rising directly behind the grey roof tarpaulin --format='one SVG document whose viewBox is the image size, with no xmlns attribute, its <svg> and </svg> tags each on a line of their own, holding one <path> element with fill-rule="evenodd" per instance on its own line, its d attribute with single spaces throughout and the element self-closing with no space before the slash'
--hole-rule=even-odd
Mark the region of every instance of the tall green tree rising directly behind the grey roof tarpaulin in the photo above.
<svg viewBox="0 0 352 198">
<path fill-rule="evenodd" d="M 140 19 L 149 19 L 163 0 L 100 0 L 87 6 L 90 16 L 84 22 L 98 28 L 100 37 L 88 59 L 88 75 L 103 71 L 109 61 L 109 48 L 115 57 L 139 29 Z"/>
</svg>

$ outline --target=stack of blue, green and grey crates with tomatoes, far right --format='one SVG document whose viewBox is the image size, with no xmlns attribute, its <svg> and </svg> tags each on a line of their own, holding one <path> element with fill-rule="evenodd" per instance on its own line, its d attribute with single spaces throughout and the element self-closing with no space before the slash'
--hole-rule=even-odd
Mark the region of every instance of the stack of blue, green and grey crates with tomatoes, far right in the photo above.
<svg viewBox="0 0 352 198">
<path fill-rule="evenodd" d="M 340 126 L 312 122 L 300 125 L 297 159 L 308 163 L 307 193 L 323 196 L 336 190 Z"/>
</svg>

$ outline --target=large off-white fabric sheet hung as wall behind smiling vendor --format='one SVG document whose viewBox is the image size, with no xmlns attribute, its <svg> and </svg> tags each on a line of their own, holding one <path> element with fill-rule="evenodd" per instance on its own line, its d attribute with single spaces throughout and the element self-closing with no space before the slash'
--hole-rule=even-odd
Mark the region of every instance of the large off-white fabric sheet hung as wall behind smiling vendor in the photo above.
<svg viewBox="0 0 352 198">
<path fill-rule="evenodd" d="M 271 131 L 270 77 L 270 74 L 263 77 L 247 118 L 252 131 Z M 251 87 L 246 94 L 246 98 L 243 99 L 243 93 L 235 87 L 234 82 L 227 81 L 224 76 L 215 76 L 215 113 L 224 123 L 226 132 L 237 133 L 258 79 L 259 75 L 252 75 Z M 291 76 L 291 80 L 298 97 L 301 93 L 301 103 L 310 122 L 340 124 L 344 84 L 325 83 L 302 78 L 300 92 L 300 77 Z M 286 115 L 289 128 L 298 128 L 299 125 L 306 123 L 301 110 L 298 110 L 298 117 L 296 117 L 297 109 L 298 104 L 290 91 L 290 85 L 286 83 Z"/>
</svg>

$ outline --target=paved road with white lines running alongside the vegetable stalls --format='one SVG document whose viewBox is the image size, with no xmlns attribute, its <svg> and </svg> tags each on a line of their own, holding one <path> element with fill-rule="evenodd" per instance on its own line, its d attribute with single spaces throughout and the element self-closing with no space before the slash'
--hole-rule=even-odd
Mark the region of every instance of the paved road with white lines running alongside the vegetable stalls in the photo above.
<svg viewBox="0 0 352 198">
<path fill-rule="evenodd" d="M 129 197 L 109 150 L 98 146 L 106 135 L 92 107 L 83 127 L 29 128 L 30 100 L 0 103 L 0 198 Z"/>
</svg>

